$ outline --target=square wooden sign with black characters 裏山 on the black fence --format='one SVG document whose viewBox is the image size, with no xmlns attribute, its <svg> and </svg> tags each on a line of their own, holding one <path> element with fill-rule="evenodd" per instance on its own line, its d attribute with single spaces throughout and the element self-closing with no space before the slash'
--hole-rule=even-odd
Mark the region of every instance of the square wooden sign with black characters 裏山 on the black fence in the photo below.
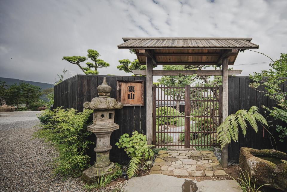
<svg viewBox="0 0 287 192">
<path fill-rule="evenodd" d="M 117 80 L 117 102 L 123 106 L 144 106 L 144 81 Z"/>
</svg>

